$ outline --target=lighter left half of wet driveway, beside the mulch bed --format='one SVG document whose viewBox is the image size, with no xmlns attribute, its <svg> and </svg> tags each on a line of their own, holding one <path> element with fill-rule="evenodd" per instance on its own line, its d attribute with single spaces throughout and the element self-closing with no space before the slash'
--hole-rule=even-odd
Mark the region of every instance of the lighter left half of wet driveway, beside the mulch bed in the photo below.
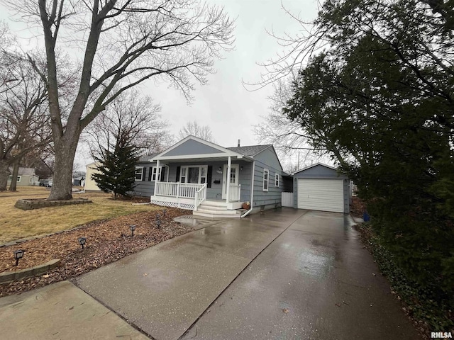
<svg viewBox="0 0 454 340">
<path fill-rule="evenodd" d="M 76 284 L 154 339 L 178 339 L 305 212 L 226 220 L 87 273 Z"/>
</svg>

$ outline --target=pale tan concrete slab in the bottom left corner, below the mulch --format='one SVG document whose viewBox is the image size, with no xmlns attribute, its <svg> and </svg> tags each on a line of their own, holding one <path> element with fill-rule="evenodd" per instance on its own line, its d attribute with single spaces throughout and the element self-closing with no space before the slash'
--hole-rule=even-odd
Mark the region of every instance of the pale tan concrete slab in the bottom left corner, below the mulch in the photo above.
<svg viewBox="0 0 454 340">
<path fill-rule="evenodd" d="M 147 336 L 68 281 L 0 299 L 0 339 L 131 339 Z"/>
</svg>

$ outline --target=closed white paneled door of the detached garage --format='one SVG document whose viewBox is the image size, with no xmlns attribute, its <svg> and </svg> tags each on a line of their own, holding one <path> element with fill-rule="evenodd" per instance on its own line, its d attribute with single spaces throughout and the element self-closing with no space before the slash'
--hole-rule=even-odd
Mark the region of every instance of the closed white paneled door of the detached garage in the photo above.
<svg viewBox="0 0 454 340">
<path fill-rule="evenodd" d="M 343 212 L 343 180 L 298 179 L 298 208 Z"/>
</svg>

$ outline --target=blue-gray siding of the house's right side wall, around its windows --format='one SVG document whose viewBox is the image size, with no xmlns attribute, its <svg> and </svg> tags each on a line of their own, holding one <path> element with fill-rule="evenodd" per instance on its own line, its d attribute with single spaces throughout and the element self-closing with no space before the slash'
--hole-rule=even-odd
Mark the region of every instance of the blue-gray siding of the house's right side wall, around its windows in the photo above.
<svg viewBox="0 0 454 340">
<path fill-rule="evenodd" d="M 280 168 L 280 166 L 279 166 Z M 263 191 L 263 170 L 268 169 L 268 191 Z M 275 174 L 279 174 L 279 187 L 275 186 Z M 270 164 L 265 164 L 255 161 L 254 171 L 254 197 L 253 207 L 266 208 L 266 205 L 280 206 L 282 201 L 282 191 L 284 191 L 284 184 L 282 181 L 282 169 L 276 169 Z"/>
</svg>

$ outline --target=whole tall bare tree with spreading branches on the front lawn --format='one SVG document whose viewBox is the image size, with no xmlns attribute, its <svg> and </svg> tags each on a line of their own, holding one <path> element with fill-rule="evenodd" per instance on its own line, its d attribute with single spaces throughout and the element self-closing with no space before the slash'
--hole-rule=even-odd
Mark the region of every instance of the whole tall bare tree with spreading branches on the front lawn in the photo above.
<svg viewBox="0 0 454 340">
<path fill-rule="evenodd" d="M 55 173 L 50 200 L 71 198 L 74 154 L 82 130 L 126 89 L 146 79 L 171 81 L 187 98 L 206 83 L 214 58 L 233 44 L 233 22 L 196 0 L 22 0 L 9 6 L 43 28 Z M 56 46 L 82 47 L 77 96 L 63 120 Z M 74 52 L 73 52 L 74 55 Z"/>
</svg>

